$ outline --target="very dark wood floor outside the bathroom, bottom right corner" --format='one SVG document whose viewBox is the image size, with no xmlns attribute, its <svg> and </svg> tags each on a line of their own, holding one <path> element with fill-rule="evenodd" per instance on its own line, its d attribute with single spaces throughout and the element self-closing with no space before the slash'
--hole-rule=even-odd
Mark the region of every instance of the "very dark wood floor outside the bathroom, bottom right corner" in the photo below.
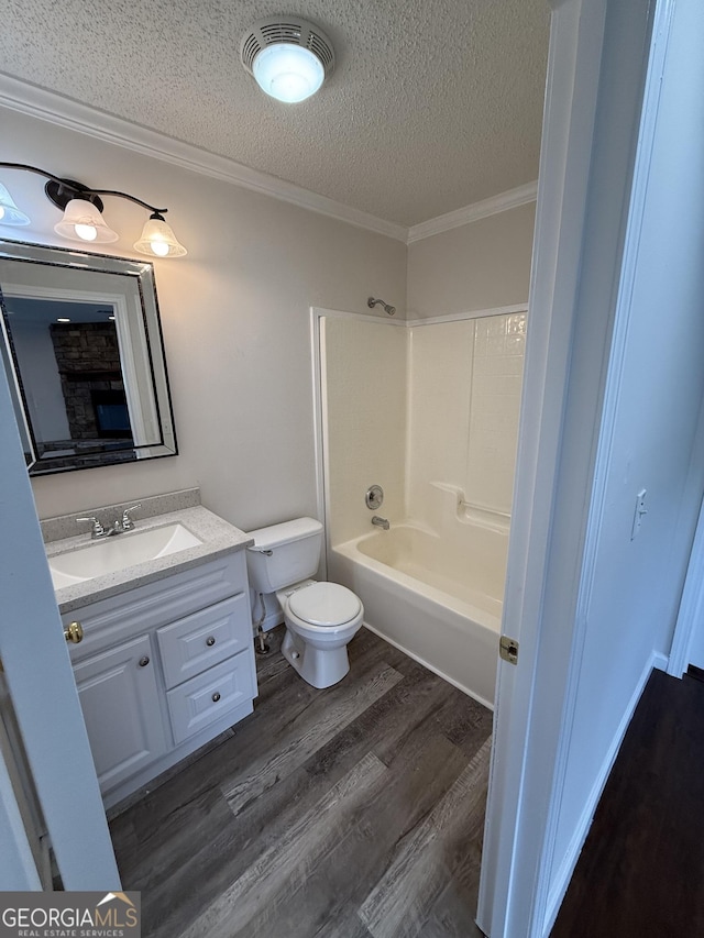
<svg viewBox="0 0 704 938">
<path fill-rule="evenodd" d="M 552 938 L 704 936 L 704 683 L 654 671 Z"/>
</svg>

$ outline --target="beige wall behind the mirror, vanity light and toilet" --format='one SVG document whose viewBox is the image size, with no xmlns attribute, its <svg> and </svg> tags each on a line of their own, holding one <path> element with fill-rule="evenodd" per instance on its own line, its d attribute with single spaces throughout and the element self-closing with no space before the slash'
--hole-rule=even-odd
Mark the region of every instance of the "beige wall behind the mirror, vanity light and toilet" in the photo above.
<svg viewBox="0 0 704 938">
<path fill-rule="evenodd" d="M 180 454 L 36 479 L 40 516 L 193 485 L 243 529 L 315 515 L 309 307 L 369 313 L 374 294 L 403 314 L 405 245 L 34 118 L 0 120 L 4 159 L 167 206 L 189 251 L 155 262 Z M 2 235 L 57 243 L 41 179 L 3 179 L 36 221 Z M 139 256 L 145 213 L 106 199 L 108 213 L 122 236 L 107 253 Z"/>
</svg>

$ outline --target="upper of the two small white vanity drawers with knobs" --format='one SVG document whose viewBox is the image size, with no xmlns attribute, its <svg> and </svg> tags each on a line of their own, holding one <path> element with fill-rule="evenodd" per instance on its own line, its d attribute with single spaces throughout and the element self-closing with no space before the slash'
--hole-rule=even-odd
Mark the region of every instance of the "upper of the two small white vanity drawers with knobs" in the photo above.
<svg viewBox="0 0 704 938">
<path fill-rule="evenodd" d="M 248 596 L 241 593 L 157 629 L 167 689 L 232 658 L 252 643 Z"/>
</svg>

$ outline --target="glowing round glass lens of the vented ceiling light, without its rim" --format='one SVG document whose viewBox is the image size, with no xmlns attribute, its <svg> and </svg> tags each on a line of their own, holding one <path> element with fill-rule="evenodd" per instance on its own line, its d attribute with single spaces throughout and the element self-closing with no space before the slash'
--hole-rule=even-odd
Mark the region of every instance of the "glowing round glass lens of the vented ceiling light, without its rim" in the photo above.
<svg viewBox="0 0 704 938">
<path fill-rule="evenodd" d="M 287 104 L 315 95 L 326 76 L 317 55 L 290 43 L 263 48 L 252 64 L 252 71 L 262 91 Z"/>
</svg>

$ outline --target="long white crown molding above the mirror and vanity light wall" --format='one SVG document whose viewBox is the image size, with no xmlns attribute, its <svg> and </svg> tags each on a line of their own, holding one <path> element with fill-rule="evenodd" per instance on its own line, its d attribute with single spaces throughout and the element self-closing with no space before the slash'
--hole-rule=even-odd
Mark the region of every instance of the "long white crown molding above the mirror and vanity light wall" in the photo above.
<svg viewBox="0 0 704 938">
<path fill-rule="evenodd" d="M 342 205 L 334 199 L 304 189 L 302 186 L 295 186 L 293 183 L 277 179 L 258 169 L 251 169 L 234 159 L 209 153 L 199 146 L 175 140 L 1 71 L 0 106 L 144 156 L 161 159 L 182 169 L 271 196 L 376 234 L 384 234 L 396 241 L 406 243 L 408 238 L 408 228 L 405 225 Z"/>
</svg>

